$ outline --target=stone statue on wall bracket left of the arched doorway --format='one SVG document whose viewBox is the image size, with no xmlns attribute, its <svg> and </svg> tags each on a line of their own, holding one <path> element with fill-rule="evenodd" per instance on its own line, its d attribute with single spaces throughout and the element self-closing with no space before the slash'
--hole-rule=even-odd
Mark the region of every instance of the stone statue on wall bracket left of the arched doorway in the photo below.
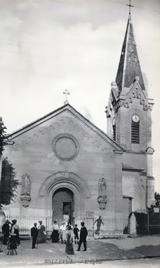
<svg viewBox="0 0 160 268">
<path fill-rule="evenodd" d="M 20 200 L 22 201 L 22 206 L 27 208 L 29 206 L 29 201 L 31 201 L 31 181 L 27 173 L 22 175 L 21 187 Z"/>
</svg>

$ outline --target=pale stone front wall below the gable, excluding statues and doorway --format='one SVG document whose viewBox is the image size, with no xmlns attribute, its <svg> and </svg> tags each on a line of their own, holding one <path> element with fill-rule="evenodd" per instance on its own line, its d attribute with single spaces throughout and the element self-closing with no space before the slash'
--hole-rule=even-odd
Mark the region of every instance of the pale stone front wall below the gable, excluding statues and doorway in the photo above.
<svg viewBox="0 0 160 268">
<path fill-rule="evenodd" d="M 6 207 L 6 212 L 45 215 L 46 196 L 39 196 L 41 186 L 48 177 L 55 174 L 72 173 L 77 185 L 79 182 L 86 185 L 89 193 L 88 196 L 84 196 L 81 214 L 91 211 L 95 216 L 114 217 L 115 213 L 122 215 L 121 154 L 116 154 L 111 143 L 100 137 L 83 121 L 76 119 L 72 113 L 66 110 L 30 128 L 13 140 L 15 144 L 6 147 L 4 157 L 8 156 L 8 161 L 13 164 L 16 178 L 20 182 L 22 175 L 29 175 L 32 182 L 31 201 L 27 208 L 22 207 L 20 186 L 15 203 Z M 97 201 L 98 182 L 102 177 L 107 182 L 105 210 L 100 210 Z M 67 180 L 72 178 L 65 178 L 63 187 L 67 187 Z M 51 191 L 51 187 L 48 191 Z M 77 210 L 80 206 L 81 204 L 77 205 Z M 50 209 L 52 210 L 51 207 Z"/>
</svg>

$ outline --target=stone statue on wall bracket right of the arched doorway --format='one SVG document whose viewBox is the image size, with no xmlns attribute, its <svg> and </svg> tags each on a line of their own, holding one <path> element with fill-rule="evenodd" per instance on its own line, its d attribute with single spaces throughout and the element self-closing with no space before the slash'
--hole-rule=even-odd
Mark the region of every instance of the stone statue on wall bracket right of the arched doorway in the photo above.
<svg viewBox="0 0 160 268">
<path fill-rule="evenodd" d="M 98 203 L 99 208 L 104 210 L 107 203 L 107 184 L 104 177 L 98 182 Z"/>
</svg>

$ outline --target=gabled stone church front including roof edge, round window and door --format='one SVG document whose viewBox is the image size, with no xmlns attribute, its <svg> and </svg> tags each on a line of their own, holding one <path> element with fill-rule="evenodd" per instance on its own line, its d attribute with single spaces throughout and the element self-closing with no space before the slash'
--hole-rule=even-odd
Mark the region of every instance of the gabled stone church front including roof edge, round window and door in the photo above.
<svg viewBox="0 0 160 268">
<path fill-rule="evenodd" d="M 72 106 L 60 107 L 10 138 L 14 144 L 5 154 L 21 182 L 9 208 L 12 214 L 53 215 L 58 220 L 65 210 L 76 220 L 86 213 L 122 216 L 124 149 Z M 30 191 L 23 182 L 27 179 Z"/>
</svg>

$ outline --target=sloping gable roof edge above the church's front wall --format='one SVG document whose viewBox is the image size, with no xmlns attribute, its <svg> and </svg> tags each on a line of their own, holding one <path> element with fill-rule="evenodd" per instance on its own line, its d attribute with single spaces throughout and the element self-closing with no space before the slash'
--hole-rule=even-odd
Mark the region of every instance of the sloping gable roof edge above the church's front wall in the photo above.
<svg viewBox="0 0 160 268">
<path fill-rule="evenodd" d="M 67 105 L 63 105 L 62 107 L 55 109 L 53 112 L 46 114 L 45 116 L 37 119 L 36 121 L 33 121 L 32 123 L 27 124 L 26 126 L 23 126 L 22 128 L 15 130 L 13 133 L 8 134 L 8 139 L 12 140 L 13 138 L 18 137 L 18 135 L 21 135 L 22 133 L 27 132 L 28 130 L 35 128 L 36 126 L 40 125 L 41 123 L 44 123 L 45 121 L 47 121 L 48 119 L 51 119 L 52 117 L 64 112 L 68 110 L 69 112 L 71 112 L 74 116 L 76 116 L 77 119 L 79 119 L 80 121 L 82 121 L 83 123 L 85 123 L 89 128 L 91 128 L 93 131 L 95 131 L 98 135 L 100 135 L 101 138 L 103 138 L 104 140 L 106 140 L 107 142 L 109 142 L 110 145 L 112 145 L 115 149 L 115 151 L 125 151 L 124 147 L 122 147 L 121 145 L 119 145 L 117 142 L 115 142 L 114 140 L 112 140 L 112 138 L 109 138 L 109 136 L 102 130 L 100 130 L 100 128 L 98 128 L 97 126 L 95 126 L 93 123 L 91 123 L 91 121 L 89 121 L 88 119 L 86 119 L 86 117 L 84 117 L 82 114 L 80 114 L 79 112 L 76 111 L 76 109 L 74 109 L 74 107 L 72 107 L 71 105 L 67 104 Z"/>
</svg>

